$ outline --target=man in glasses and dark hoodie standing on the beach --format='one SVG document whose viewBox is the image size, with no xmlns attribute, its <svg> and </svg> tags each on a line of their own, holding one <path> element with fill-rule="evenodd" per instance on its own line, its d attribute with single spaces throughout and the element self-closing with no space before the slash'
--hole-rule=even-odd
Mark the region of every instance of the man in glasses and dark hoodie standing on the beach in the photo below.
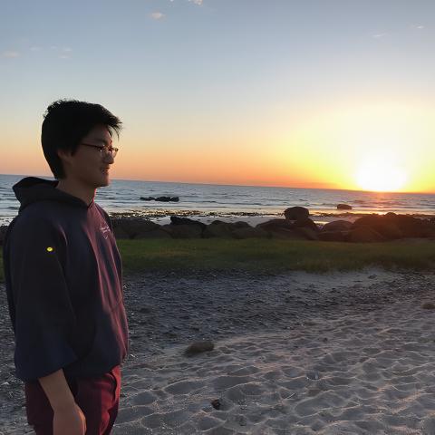
<svg viewBox="0 0 435 435">
<path fill-rule="evenodd" d="M 99 104 L 51 104 L 43 154 L 54 178 L 14 185 L 21 203 L 4 242 L 16 375 L 37 435 L 109 434 L 128 350 L 121 257 L 108 214 L 93 201 L 109 185 L 121 121 Z"/>
</svg>

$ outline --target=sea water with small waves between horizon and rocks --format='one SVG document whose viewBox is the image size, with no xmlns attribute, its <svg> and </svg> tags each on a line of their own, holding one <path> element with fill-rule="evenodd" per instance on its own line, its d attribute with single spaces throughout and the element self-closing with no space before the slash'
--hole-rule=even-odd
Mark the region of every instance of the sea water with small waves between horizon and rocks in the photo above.
<svg viewBox="0 0 435 435">
<path fill-rule="evenodd" d="M 19 202 L 13 185 L 24 175 L 0 174 L 0 225 L 8 224 L 18 213 Z M 36 176 L 38 177 L 38 176 Z M 50 177 L 41 177 L 52 179 Z M 179 197 L 179 202 L 143 201 L 140 197 Z M 111 185 L 97 189 L 95 201 L 112 216 L 130 214 L 163 223 L 171 215 L 243 219 L 244 217 L 279 217 L 285 208 L 310 209 L 316 221 L 328 214 L 343 213 L 337 204 L 349 204 L 352 213 L 387 213 L 389 211 L 435 216 L 435 194 L 377 193 L 334 189 L 266 188 L 212 184 L 167 183 L 111 179 Z"/>
</svg>

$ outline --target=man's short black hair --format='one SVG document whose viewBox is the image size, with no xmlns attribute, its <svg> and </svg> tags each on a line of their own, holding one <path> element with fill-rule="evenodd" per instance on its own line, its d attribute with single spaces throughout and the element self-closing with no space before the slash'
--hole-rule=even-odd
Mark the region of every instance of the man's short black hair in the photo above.
<svg viewBox="0 0 435 435">
<path fill-rule="evenodd" d="M 43 114 L 41 141 L 43 155 L 55 179 L 64 179 L 62 160 L 57 150 L 70 150 L 74 155 L 81 140 L 97 125 L 105 125 L 110 134 L 119 137 L 121 120 L 100 104 L 77 100 L 58 100 Z"/>
</svg>

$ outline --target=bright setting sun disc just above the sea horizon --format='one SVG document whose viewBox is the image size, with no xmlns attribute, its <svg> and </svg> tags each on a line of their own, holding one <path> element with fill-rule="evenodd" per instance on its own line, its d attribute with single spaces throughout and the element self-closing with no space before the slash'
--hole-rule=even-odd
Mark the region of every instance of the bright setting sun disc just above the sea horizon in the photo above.
<svg viewBox="0 0 435 435">
<path fill-rule="evenodd" d="M 403 169 L 391 162 L 372 160 L 362 164 L 356 174 L 356 180 L 364 190 L 395 192 L 403 188 L 407 175 Z"/>
</svg>

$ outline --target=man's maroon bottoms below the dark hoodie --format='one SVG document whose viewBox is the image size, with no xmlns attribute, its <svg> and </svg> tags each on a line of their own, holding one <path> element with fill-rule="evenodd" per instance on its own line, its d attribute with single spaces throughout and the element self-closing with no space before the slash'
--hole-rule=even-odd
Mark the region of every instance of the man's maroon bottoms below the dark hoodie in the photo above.
<svg viewBox="0 0 435 435">
<path fill-rule="evenodd" d="M 86 417 L 86 435 L 108 435 L 118 415 L 121 368 L 96 378 L 68 379 L 74 400 Z M 25 382 L 27 421 L 36 435 L 53 435 L 53 409 L 39 382 Z"/>
</svg>

